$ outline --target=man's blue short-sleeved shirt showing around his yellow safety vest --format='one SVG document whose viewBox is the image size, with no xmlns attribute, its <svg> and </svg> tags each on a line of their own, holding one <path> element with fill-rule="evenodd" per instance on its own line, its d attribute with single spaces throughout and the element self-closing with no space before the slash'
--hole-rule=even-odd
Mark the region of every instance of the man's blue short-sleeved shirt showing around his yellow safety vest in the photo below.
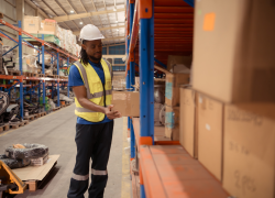
<svg viewBox="0 0 275 198">
<path fill-rule="evenodd" d="M 105 86 L 105 72 L 103 72 L 101 63 L 99 62 L 98 64 L 96 64 L 89 61 L 89 64 L 90 64 L 89 66 L 92 66 L 94 69 L 97 72 L 102 85 Z M 69 68 L 68 86 L 69 87 L 84 86 L 84 80 L 81 78 L 81 75 L 75 65 L 72 65 Z M 78 124 L 99 124 L 99 123 L 106 123 L 106 122 L 111 122 L 111 121 L 112 120 L 108 119 L 107 116 L 105 116 L 105 119 L 101 122 L 90 122 L 79 117 L 77 117 L 76 122 Z"/>
</svg>

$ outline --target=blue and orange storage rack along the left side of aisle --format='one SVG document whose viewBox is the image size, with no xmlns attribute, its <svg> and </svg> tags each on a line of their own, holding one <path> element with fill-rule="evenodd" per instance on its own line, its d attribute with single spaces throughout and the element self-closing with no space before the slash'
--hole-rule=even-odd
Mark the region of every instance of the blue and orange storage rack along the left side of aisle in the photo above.
<svg viewBox="0 0 275 198">
<path fill-rule="evenodd" d="M 59 61 L 63 59 L 63 61 L 66 61 L 67 63 L 67 66 L 69 65 L 70 62 L 75 62 L 78 59 L 77 56 L 74 56 L 72 54 L 69 54 L 68 52 L 65 52 L 63 51 L 62 48 L 59 48 L 58 46 L 54 45 L 54 44 L 51 44 L 51 43 L 47 43 L 44 41 L 44 34 L 42 34 L 41 36 L 42 37 L 35 37 L 34 35 L 23 31 L 21 29 L 21 21 L 18 21 L 18 24 L 13 25 L 13 24 L 10 24 L 8 23 L 7 21 L 0 19 L 0 25 L 4 25 L 4 26 L 8 26 L 14 31 L 18 32 L 18 40 L 16 38 L 12 38 L 10 37 L 8 34 L 3 33 L 2 31 L 0 31 L 0 37 L 4 37 L 4 38 L 8 38 L 10 41 L 13 41 L 14 43 L 16 43 L 18 45 L 14 46 L 13 48 L 15 47 L 19 47 L 19 68 L 20 68 L 20 73 L 21 75 L 20 76 L 13 76 L 13 75 L 0 75 L 0 79 L 1 80 L 8 80 L 8 81 L 11 81 L 11 80 L 15 80 L 18 81 L 16 84 L 19 84 L 19 94 L 20 94 L 20 117 L 23 119 L 24 118 L 24 109 L 23 109 L 23 100 L 24 100 L 24 94 L 31 94 L 30 91 L 26 91 L 24 90 L 23 88 L 33 88 L 35 86 L 38 86 L 37 89 L 38 89 L 38 96 L 41 94 L 41 90 L 43 92 L 43 106 L 45 107 L 45 98 L 46 98 L 46 89 L 48 87 L 51 88 L 54 88 L 56 87 L 56 92 L 57 92 L 57 107 L 59 107 L 59 88 L 64 88 L 67 86 L 67 81 L 68 79 L 64 79 L 63 77 L 59 77 L 59 69 L 64 69 L 63 67 L 59 67 Z M 25 35 L 28 37 L 22 37 L 22 35 Z M 28 42 L 23 38 L 32 38 L 33 41 L 31 42 Z M 35 47 L 34 46 L 37 45 L 38 47 Z M 40 56 L 42 57 L 42 74 L 44 75 L 43 77 L 28 77 L 23 74 L 23 67 L 22 67 L 22 62 L 23 62 L 23 56 L 22 56 L 22 45 L 25 45 L 28 47 L 31 47 L 31 48 L 34 48 L 36 50 L 38 53 L 38 58 Z M 47 51 L 45 50 L 45 46 L 47 46 Z M 12 48 L 12 50 L 13 50 Z M 57 78 L 52 78 L 52 77 L 46 77 L 45 76 L 45 64 L 44 64 L 44 54 L 50 54 L 52 56 L 52 63 L 53 62 L 57 62 L 57 75 L 58 76 Z M 55 59 L 54 59 L 55 58 Z M 35 82 L 37 81 L 38 85 L 25 85 L 25 81 L 30 81 L 30 84 L 32 82 Z M 46 84 L 51 82 L 52 85 L 51 86 L 47 86 Z M 10 82 L 8 82 L 10 84 Z M 53 84 L 56 84 L 55 86 L 53 86 Z M 18 87 L 16 86 L 16 87 Z M 3 89 L 4 88 L 4 91 L 9 91 L 12 87 L 14 87 L 14 85 L 4 85 L 4 86 L 1 86 L 0 89 Z M 41 89 L 42 87 L 42 89 Z M 67 95 L 69 96 L 69 89 L 67 88 Z"/>
</svg>

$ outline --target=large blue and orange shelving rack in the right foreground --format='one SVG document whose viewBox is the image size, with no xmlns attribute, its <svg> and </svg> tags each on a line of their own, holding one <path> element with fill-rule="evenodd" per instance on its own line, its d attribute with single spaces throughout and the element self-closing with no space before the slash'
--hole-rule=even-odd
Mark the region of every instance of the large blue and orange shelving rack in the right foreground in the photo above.
<svg viewBox="0 0 275 198">
<path fill-rule="evenodd" d="M 166 141 L 163 129 L 154 127 L 154 70 L 165 72 L 168 55 L 190 55 L 193 53 L 194 31 L 193 0 L 129 0 L 125 22 L 125 77 L 127 88 L 135 84 L 135 72 L 140 74 L 140 118 L 129 118 L 128 129 L 131 136 L 131 160 L 135 158 L 140 167 L 140 195 L 145 197 L 215 197 L 204 191 L 202 183 L 218 197 L 228 197 L 217 182 L 201 165 L 200 170 L 209 176 L 208 182 L 191 184 L 180 178 L 185 157 L 198 163 L 178 145 L 178 141 Z M 167 72 L 167 70 L 166 70 Z M 158 76 L 158 75 L 157 75 Z M 156 77 L 157 77 L 156 76 Z M 170 146 L 180 150 L 169 157 Z M 138 150 L 136 150 L 138 148 Z M 156 153 L 152 152 L 155 151 Z M 139 152 L 139 157 L 135 152 Z M 160 152 L 160 153 L 157 153 Z M 158 155 L 157 155 L 158 154 Z M 162 154 L 162 156 L 161 156 Z M 157 157 L 161 157 L 157 160 Z M 188 175 L 188 174 L 187 174 Z M 188 175 L 188 176 L 195 176 Z M 210 179 L 211 178 L 211 179 Z M 210 185 L 210 186 L 209 186 Z M 187 191 L 186 191 L 187 190 Z M 207 190 L 207 188 L 205 188 Z M 211 194 L 211 193 L 209 193 Z M 216 196 L 217 197 L 217 196 Z"/>
</svg>

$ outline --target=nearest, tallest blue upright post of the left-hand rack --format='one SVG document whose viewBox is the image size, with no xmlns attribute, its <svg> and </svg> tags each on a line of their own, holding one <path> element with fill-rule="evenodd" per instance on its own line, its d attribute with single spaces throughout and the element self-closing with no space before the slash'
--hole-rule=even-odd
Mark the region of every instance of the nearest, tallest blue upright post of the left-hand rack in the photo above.
<svg viewBox="0 0 275 198">
<path fill-rule="evenodd" d="M 21 21 L 18 21 L 18 28 L 21 29 Z M 22 32 L 19 31 L 18 36 L 18 46 L 19 46 L 19 69 L 21 72 L 21 76 L 23 75 L 23 67 L 22 67 Z M 20 88 L 19 88 L 19 95 L 20 95 L 20 117 L 22 120 L 24 119 L 24 101 L 23 101 L 23 79 L 20 79 Z"/>
</svg>

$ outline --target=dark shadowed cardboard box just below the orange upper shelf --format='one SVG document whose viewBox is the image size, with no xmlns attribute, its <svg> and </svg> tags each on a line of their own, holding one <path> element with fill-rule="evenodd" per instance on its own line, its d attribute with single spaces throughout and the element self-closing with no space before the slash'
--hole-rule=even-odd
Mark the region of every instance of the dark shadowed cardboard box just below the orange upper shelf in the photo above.
<svg viewBox="0 0 275 198">
<path fill-rule="evenodd" d="M 193 59 L 191 56 L 174 56 L 174 55 L 169 55 L 168 61 L 167 61 L 167 70 L 170 72 L 170 73 L 176 73 L 174 70 L 175 69 L 174 66 L 176 66 L 178 64 L 183 64 L 186 67 L 190 68 L 191 59 Z"/>
</svg>

